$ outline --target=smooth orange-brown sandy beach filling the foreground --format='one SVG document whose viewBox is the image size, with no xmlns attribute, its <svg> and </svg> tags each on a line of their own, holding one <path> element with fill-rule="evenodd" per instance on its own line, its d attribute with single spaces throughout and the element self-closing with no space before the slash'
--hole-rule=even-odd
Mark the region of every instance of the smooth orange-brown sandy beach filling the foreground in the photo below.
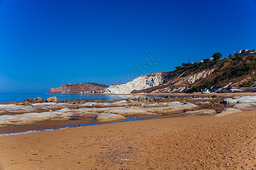
<svg viewBox="0 0 256 170">
<path fill-rule="evenodd" d="M 255 111 L 0 137 L 0 169 L 255 169 Z"/>
</svg>

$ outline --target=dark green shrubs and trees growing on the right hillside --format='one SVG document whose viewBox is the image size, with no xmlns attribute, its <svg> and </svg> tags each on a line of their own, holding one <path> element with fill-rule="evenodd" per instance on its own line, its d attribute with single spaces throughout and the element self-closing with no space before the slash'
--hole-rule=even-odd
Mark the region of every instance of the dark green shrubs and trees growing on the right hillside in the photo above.
<svg viewBox="0 0 256 170">
<path fill-rule="evenodd" d="M 254 51 L 254 50 L 253 50 Z M 188 76 L 194 73 L 199 73 L 205 69 L 215 68 L 212 73 L 212 79 L 199 79 L 197 82 L 201 84 L 198 86 L 193 86 L 190 90 L 186 92 L 199 92 L 204 90 L 205 88 L 210 89 L 212 86 L 216 84 L 221 84 L 222 81 L 232 79 L 236 79 L 238 77 L 245 76 L 247 74 L 253 73 L 256 71 L 256 56 L 242 56 L 241 54 L 236 54 L 233 56 L 232 54 L 229 57 L 221 59 L 221 53 L 213 54 L 213 61 L 210 61 L 209 58 L 204 59 L 204 62 L 194 62 L 194 63 L 182 63 L 181 66 L 175 67 L 176 70 L 170 71 L 168 74 L 168 78 L 164 80 L 164 83 L 168 83 L 169 79 L 174 79 L 177 76 Z M 243 83 L 243 87 L 252 86 L 254 82 L 245 82 Z M 223 84 L 222 84 L 223 85 Z M 217 85 L 218 86 L 218 85 Z"/>
</svg>

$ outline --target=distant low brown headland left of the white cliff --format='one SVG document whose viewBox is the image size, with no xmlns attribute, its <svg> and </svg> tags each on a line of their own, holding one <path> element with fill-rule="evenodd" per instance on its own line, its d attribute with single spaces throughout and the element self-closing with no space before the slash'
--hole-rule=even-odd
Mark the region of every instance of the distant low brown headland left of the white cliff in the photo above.
<svg viewBox="0 0 256 170">
<path fill-rule="evenodd" d="M 51 88 L 47 94 L 90 94 L 102 93 L 108 88 L 105 84 L 82 83 L 82 84 L 64 84 L 58 88 Z"/>
</svg>

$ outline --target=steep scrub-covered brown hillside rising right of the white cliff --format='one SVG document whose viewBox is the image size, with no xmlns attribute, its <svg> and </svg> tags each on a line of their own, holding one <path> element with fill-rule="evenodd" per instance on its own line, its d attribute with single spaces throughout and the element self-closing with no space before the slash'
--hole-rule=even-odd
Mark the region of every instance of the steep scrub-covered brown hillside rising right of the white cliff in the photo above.
<svg viewBox="0 0 256 170">
<path fill-rule="evenodd" d="M 229 90 L 232 87 L 252 87 L 255 83 L 256 56 L 229 56 L 224 59 L 183 63 L 170 71 L 158 86 L 131 93 L 171 93 Z M 229 84 L 229 85 L 228 85 Z M 225 89 L 222 87 L 228 85 Z"/>
</svg>

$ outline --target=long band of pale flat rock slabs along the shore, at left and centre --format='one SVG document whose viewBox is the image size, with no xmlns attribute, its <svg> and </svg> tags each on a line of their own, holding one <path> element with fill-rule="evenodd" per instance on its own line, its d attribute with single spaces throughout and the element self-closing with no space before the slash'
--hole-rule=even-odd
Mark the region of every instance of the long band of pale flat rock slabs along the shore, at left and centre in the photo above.
<svg viewBox="0 0 256 170">
<path fill-rule="evenodd" d="M 123 104 L 121 104 L 123 103 Z M 1 111 L 5 114 L 0 114 L 0 127 L 7 125 L 28 125 L 44 122 L 47 120 L 70 120 L 80 118 L 92 118 L 97 122 L 111 122 L 125 120 L 127 117 L 135 116 L 155 116 L 156 114 L 170 114 L 175 112 L 181 112 L 184 109 L 197 108 L 197 105 L 192 103 L 180 103 L 174 101 L 170 103 L 138 103 L 138 105 L 130 105 L 130 103 L 116 102 L 116 103 L 97 103 L 94 106 L 102 106 L 104 108 L 94 108 L 87 105 L 86 108 L 73 109 L 72 107 L 79 106 L 77 104 L 67 103 L 35 103 L 27 106 L 19 106 L 14 104 L 2 104 L 0 105 Z M 121 105 L 120 105 L 121 104 Z M 84 104 L 80 104 L 84 105 Z M 124 107 L 123 105 L 130 105 Z M 85 105 L 84 105 L 85 106 Z M 48 111 L 48 109 L 55 111 Z M 70 109 L 68 109 L 70 108 Z M 24 111 L 23 114 L 16 114 L 20 110 Z M 41 112 L 41 111 L 43 112 Z M 32 111 L 32 112 L 31 112 Z M 34 111 L 34 112 L 33 112 Z M 36 112 L 38 111 L 38 112 Z M 30 112 L 30 113 L 28 113 Z M 8 114 L 9 113 L 9 114 Z M 10 114 L 11 113 L 11 114 Z"/>
</svg>

